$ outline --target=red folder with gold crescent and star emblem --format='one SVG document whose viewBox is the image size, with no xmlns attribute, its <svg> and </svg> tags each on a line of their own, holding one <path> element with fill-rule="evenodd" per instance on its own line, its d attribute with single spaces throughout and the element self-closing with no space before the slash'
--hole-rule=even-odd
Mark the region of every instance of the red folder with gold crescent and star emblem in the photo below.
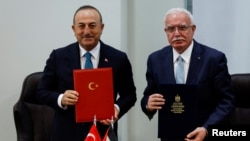
<svg viewBox="0 0 250 141">
<path fill-rule="evenodd" d="M 114 116 L 112 68 L 74 70 L 74 88 L 79 93 L 75 106 L 76 122 Z"/>
</svg>

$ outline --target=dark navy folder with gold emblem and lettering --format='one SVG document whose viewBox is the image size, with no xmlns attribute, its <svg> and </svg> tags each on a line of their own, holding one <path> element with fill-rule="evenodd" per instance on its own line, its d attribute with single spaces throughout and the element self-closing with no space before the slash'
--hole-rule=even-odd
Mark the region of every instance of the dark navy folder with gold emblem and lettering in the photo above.
<svg viewBox="0 0 250 141">
<path fill-rule="evenodd" d="M 158 136 L 184 139 L 197 127 L 197 86 L 173 84 L 162 85 L 159 89 L 166 103 L 158 113 Z"/>
</svg>

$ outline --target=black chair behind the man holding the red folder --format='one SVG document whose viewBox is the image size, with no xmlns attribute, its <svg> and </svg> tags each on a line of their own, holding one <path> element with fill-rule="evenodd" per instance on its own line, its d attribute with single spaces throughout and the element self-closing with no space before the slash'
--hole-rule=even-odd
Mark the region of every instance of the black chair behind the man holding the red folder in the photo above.
<svg viewBox="0 0 250 141">
<path fill-rule="evenodd" d="M 17 141 L 49 141 L 54 111 L 36 100 L 36 89 L 42 72 L 28 75 L 21 95 L 13 107 Z"/>
</svg>

